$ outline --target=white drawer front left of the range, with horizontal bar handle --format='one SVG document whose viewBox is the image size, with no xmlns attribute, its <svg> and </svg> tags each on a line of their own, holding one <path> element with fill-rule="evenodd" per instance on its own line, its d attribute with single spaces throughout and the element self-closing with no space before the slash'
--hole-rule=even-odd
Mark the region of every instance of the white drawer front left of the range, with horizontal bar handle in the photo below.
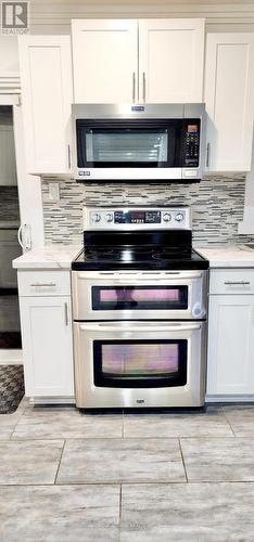
<svg viewBox="0 0 254 542">
<path fill-rule="evenodd" d="M 69 296 L 69 271 L 18 271 L 20 296 Z"/>
</svg>

